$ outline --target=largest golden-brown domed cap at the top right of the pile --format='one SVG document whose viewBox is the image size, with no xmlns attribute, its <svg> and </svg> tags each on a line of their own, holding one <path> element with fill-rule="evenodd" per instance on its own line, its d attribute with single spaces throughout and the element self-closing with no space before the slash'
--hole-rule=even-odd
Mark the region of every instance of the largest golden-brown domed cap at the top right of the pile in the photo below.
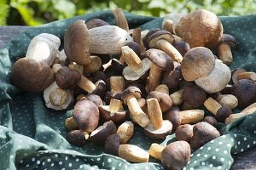
<svg viewBox="0 0 256 170">
<path fill-rule="evenodd" d="M 191 48 L 213 48 L 223 35 L 223 26 L 216 14 L 199 9 L 183 16 L 175 31 Z"/>
</svg>

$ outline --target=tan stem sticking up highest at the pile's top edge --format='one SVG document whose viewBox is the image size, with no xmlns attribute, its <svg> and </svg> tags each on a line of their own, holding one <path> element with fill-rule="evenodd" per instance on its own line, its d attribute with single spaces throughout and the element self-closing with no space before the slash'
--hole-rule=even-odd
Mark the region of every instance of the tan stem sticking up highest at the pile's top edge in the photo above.
<svg viewBox="0 0 256 170">
<path fill-rule="evenodd" d="M 116 25 L 125 31 L 129 31 L 128 22 L 125 18 L 125 14 L 121 8 L 116 8 L 113 10 L 113 16 L 116 20 Z"/>
</svg>

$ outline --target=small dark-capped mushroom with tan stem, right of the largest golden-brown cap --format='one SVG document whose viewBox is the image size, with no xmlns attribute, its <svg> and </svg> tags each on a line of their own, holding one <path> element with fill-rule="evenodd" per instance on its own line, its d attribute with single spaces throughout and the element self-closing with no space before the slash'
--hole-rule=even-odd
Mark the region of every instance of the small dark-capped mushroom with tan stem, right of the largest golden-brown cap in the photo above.
<svg viewBox="0 0 256 170">
<path fill-rule="evenodd" d="M 233 61 L 231 49 L 236 48 L 236 38 L 230 34 L 223 34 L 218 43 L 218 59 L 224 64 L 230 65 Z"/>
</svg>

